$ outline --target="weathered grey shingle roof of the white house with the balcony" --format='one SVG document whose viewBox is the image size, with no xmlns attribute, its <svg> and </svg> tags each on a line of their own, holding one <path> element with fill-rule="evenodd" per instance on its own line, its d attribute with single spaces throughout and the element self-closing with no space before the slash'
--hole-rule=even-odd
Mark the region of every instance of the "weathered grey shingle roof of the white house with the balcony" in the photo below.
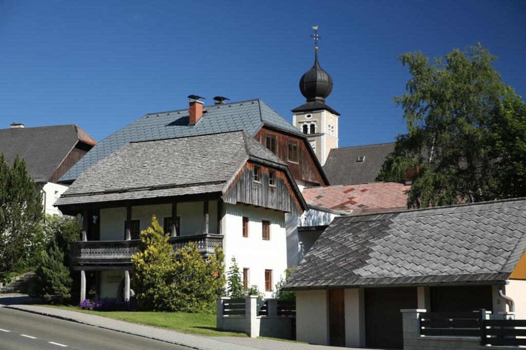
<svg viewBox="0 0 526 350">
<path fill-rule="evenodd" d="M 84 171 L 55 205 L 223 192 L 248 159 L 286 169 L 245 131 L 131 142 Z"/>
</svg>

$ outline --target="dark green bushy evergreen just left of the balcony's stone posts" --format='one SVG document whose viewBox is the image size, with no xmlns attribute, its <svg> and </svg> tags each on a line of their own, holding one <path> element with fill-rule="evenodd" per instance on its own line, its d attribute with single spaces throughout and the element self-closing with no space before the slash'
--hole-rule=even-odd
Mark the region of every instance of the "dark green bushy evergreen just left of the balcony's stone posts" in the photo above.
<svg viewBox="0 0 526 350">
<path fill-rule="evenodd" d="M 79 239 L 82 223 L 78 217 L 47 215 L 41 230 L 46 244 L 34 259 L 36 279 L 29 294 L 64 302 L 78 294 L 79 276 L 69 270 L 69 251 L 71 243 Z"/>
</svg>

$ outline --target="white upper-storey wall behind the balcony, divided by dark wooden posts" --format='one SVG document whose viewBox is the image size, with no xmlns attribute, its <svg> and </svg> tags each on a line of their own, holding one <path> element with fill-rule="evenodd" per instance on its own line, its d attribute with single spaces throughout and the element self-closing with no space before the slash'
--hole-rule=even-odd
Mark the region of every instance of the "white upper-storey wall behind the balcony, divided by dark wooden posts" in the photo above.
<svg viewBox="0 0 526 350">
<path fill-rule="evenodd" d="M 217 201 L 210 201 L 209 233 L 217 233 Z M 131 220 L 140 220 L 140 230 L 146 230 L 151 225 L 152 215 L 162 226 L 165 217 L 171 216 L 171 204 L 137 205 L 131 207 Z M 186 202 L 177 204 L 177 216 L 181 217 L 179 235 L 203 233 L 203 202 Z M 124 223 L 126 208 L 108 208 L 100 210 L 100 240 L 114 241 L 124 239 Z"/>
</svg>

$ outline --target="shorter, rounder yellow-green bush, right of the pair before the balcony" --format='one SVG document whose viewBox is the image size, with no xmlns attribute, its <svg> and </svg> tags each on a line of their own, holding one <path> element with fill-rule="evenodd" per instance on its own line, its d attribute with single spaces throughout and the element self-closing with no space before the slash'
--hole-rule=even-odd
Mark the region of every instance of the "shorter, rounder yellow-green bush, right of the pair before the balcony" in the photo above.
<svg viewBox="0 0 526 350">
<path fill-rule="evenodd" d="M 203 259 L 197 243 L 190 242 L 177 252 L 175 273 L 175 301 L 183 312 L 210 312 L 216 310 L 216 297 L 225 284 L 224 255 L 219 246 L 215 254 Z"/>
</svg>

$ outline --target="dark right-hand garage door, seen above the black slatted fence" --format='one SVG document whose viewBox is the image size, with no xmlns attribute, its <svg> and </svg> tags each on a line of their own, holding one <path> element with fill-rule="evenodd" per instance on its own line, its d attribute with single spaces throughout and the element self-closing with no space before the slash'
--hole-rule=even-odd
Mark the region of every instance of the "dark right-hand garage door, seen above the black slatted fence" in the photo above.
<svg viewBox="0 0 526 350">
<path fill-rule="evenodd" d="M 493 311 L 490 285 L 430 287 L 431 312 L 471 312 L 485 308 Z"/>
</svg>

